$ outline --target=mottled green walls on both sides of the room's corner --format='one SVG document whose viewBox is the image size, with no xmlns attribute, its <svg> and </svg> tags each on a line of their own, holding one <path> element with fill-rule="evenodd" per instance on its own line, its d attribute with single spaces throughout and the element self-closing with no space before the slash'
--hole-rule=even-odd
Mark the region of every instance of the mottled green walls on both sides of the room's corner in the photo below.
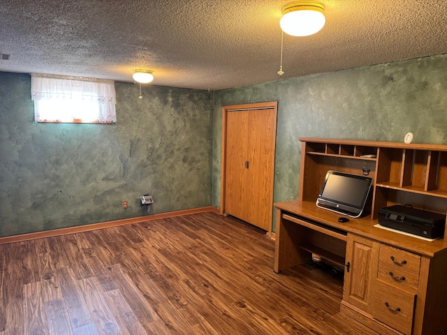
<svg viewBox="0 0 447 335">
<path fill-rule="evenodd" d="M 0 72 L 0 236 L 220 207 L 221 106 L 278 101 L 274 201 L 298 196 L 298 137 L 447 144 L 447 55 L 206 91 L 117 82 L 117 124 L 36 124 Z M 129 200 L 129 209 L 122 209 Z M 273 209 L 272 209 L 273 210 Z"/>
</svg>

